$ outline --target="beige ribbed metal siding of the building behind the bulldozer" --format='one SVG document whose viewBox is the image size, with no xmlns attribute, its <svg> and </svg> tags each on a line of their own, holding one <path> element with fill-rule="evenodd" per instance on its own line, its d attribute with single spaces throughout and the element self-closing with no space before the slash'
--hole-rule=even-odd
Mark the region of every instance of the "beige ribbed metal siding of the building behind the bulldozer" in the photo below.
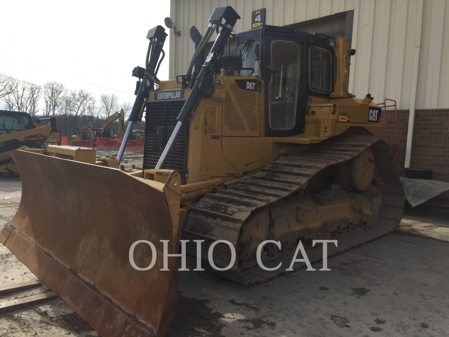
<svg viewBox="0 0 449 337">
<path fill-rule="evenodd" d="M 251 12 L 261 8 L 276 26 L 354 10 L 350 91 L 394 98 L 400 109 L 414 99 L 416 109 L 449 108 L 449 0 L 171 0 L 181 31 L 170 39 L 171 79 L 187 71 L 194 52 L 190 27 L 203 33 L 212 10 L 226 5 L 242 17 L 234 32 L 250 29 Z"/>
</svg>

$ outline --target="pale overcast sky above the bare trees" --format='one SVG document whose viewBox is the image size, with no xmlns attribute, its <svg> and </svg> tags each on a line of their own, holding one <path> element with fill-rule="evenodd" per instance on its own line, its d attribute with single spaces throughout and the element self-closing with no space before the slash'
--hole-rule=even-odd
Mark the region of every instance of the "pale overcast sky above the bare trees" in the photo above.
<svg viewBox="0 0 449 337">
<path fill-rule="evenodd" d="M 97 99 L 115 92 L 119 102 L 134 102 L 131 71 L 144 67 L 146 34 L 157 25 L 165 28 L 170 15 L 169 0 L 15 0 L 1 6 L 0 72 L 87 89 Z M 169 38 L 161 80 L 168 79 Z"/>
</svg>

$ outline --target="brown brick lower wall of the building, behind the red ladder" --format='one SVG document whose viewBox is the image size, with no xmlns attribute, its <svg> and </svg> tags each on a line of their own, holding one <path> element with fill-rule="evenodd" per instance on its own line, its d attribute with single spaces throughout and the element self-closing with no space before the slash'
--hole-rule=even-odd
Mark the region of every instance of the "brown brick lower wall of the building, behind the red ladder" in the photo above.
<svg viewBox="0 0 449 337">
<path fill-rule="evenodd" d="M 389 117 L 394 112 L 387 112 Z M 405 145 L 409 125 L 409 111 L 397 112 L 398 122 L 398 164 L 399 172 L 404 173 Z M 387 130 L 392 140 L 394 132 Z M 413 132 L 412 168 L 430 168 L 433 179 L 449 182 L 449 109 L 416 110 Z"/>
</svg>

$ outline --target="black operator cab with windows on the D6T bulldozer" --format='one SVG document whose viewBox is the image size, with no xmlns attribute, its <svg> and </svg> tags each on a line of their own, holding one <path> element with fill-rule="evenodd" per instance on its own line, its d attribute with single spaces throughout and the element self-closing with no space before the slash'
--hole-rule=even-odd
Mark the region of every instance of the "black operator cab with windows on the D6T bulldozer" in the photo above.
<svg viewBox="0 0 449 337">
<path fill-rule="evenodd" d="M 264 25 L 237 34 L 235 75 L 265 82 L 265 135 L 302 133 L 308 97 L 330 98 L 335 86 L 334 38 L 296 29 Z"/>
</svg>

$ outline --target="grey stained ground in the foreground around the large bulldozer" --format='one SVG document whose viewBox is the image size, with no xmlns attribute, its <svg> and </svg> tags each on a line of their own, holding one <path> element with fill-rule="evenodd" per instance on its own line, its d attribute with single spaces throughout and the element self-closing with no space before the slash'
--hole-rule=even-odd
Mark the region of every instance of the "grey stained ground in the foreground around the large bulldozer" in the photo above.
<svg viewBox="0 0 449 337">
<path fill-rule="evenodd" d="M 20 179 L 0 180 L 0 229 L 20 195 Z M 401 230 L 330 258 L 331 271 L 301 269 L 263 285 L 180 271 L 178 313 L 167 336 L 448 336 L 448 219 L 441 208 L 409 210 Z M 0 287 L 31 279 L 0 245 Z M 41 285 L 0 295 L 0 302 L 46 291 Z M 0 315 L 0 336 L 98 335 L 56 298 Z"/>
</svg>

